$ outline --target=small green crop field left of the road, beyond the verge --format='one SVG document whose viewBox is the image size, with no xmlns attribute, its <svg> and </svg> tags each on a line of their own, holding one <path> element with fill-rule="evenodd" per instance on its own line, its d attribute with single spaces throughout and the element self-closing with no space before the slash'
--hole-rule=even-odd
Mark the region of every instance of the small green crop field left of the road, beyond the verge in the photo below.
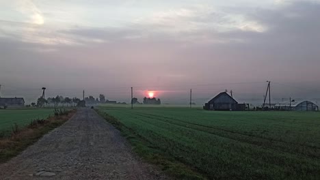
<svg viewBox="0 0 320 180">
<path fill-rule="evenodd" d="M 0 132 L 9 133 L 12 125 L 16 123 L 18 127 L 28 125 L 33 119 L 45 119 L 53 114 L 53 109 L 6 109 L 0 110 Z"/>
</svg>

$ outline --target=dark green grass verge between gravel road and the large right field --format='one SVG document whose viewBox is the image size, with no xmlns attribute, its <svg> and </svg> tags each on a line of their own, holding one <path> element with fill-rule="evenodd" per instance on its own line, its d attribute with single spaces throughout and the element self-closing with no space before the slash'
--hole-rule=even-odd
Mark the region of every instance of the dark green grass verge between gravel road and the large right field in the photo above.
<svg viewBox="0 0 320 180">
<path fill-rule="evenodd" d="M 133 151 L 146 160 L 146 162 L 159 166 L 163 172 L 175 179 L 207 179 L 198 170 L 179 162 L 175 157 L 152 145 L 148 140 L 136 134 L 134 130 L 126 127 L 115 117 L 99 110 L 96 110 L 96 112 L 120 130 L 122 136 L 130 142 Z"/>
</svg>

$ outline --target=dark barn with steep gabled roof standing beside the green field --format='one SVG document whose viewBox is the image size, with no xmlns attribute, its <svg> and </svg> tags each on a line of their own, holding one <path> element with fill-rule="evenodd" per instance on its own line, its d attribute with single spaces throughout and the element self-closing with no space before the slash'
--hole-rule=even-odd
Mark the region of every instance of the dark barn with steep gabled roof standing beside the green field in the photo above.
<svg viewBox="0 0 320 180">
<path fill-rule="evenodd" d="M 245 110 L 248 104 L 238 104 L 228 93 L 222 92 L 204 104 L 203 108 L 205 110 Z"/>
</svg>

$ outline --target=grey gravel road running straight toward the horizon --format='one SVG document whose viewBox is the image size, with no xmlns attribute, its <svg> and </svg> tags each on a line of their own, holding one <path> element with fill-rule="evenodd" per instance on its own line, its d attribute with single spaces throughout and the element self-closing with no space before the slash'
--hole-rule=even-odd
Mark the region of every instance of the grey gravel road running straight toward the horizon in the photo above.
<svg viewBox="0 0 320 180">
<path fill-rule="evenodd" d="M 0 164 L 0 179 L 167 179 L 89 108 Z"/>
</svg>

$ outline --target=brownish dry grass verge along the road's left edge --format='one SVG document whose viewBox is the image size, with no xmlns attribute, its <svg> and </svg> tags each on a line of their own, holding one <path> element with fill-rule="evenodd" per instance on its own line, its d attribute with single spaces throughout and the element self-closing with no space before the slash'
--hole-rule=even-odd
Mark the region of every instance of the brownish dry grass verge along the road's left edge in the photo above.
<svg viewBox="0 0 320 180">
<path fill-rule="evenodd" d="M 31 121 L 27 127 L 21 129 L 17 125 L 12 127 L 10 137 L 0 138 L 0 164 L 21 153 L 44 134 L 64 124 L 75 112 L 76 110 L 70 110 L 65 112 L 64 115 L 56 115 L 48 119 L 36 119 Z"/>
</svg>

